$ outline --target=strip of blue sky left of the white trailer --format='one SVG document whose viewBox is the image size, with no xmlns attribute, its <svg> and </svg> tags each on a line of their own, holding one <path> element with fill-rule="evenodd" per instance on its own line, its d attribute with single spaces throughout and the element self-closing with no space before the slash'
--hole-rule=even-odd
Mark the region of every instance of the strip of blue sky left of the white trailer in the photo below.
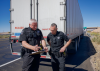
<svg viewBox="0 0 100 71">
<path fill-rule="evenodd" d="M 10 31 L 10 0 L 0 0 L 0 32 Z"/>
</svg>

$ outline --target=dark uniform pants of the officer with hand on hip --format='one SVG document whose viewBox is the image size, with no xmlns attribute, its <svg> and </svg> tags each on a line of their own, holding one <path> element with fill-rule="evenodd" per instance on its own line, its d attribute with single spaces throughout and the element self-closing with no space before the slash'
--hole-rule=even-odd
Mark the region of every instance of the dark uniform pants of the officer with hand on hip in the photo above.
<svg viewBox="0 0 100 71">
<path fill-rule="evenodd" d="M 65 71 L 65 57 L 58 57 L 54 54 L 51 55 L 51 63 L 53 71 Z"/>
</svg>

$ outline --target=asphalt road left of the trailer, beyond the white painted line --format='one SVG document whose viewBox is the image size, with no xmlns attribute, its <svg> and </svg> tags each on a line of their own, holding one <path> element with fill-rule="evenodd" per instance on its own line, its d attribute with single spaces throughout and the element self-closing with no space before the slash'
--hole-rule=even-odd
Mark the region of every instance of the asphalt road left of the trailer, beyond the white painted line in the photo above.
<svg viewBox="0 0 100 71">
<path fill-rule="evenodd" d="M 13 44 L 14 50 L 20 50 L 20 44 Z M 10 43 L 9 40 L 0 39 L 0 65 L 7 63 L 11 60 L 19 58 L 19 56 L 13 56 L 10 51 Z"/>
</svg>

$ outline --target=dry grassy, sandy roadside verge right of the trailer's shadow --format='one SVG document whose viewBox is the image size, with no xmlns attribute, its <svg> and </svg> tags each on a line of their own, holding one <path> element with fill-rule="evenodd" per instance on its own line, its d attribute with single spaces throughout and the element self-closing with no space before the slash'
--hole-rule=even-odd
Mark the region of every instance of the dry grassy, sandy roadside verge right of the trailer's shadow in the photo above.
<svg viewBox="0 0 100 71">
<path fill-rule="evenodd" d="M 91 56 L 91 63 L 93 65 L 94 71 L 100 71 L 100 33 L 90 32 L 92 44 L 96 50 L 96 54 Z"/>
</svg>

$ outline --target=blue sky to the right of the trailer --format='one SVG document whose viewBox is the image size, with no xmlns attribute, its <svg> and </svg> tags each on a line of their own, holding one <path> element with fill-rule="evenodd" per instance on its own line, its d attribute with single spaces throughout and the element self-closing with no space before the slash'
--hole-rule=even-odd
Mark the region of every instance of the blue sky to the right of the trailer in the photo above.
<svg viewBox="0 0 100 71">
<path fill-rule="evenodd" d="M 100 0 L 78 0 L 85 27 L 100 27 Z"/>
</svg>

